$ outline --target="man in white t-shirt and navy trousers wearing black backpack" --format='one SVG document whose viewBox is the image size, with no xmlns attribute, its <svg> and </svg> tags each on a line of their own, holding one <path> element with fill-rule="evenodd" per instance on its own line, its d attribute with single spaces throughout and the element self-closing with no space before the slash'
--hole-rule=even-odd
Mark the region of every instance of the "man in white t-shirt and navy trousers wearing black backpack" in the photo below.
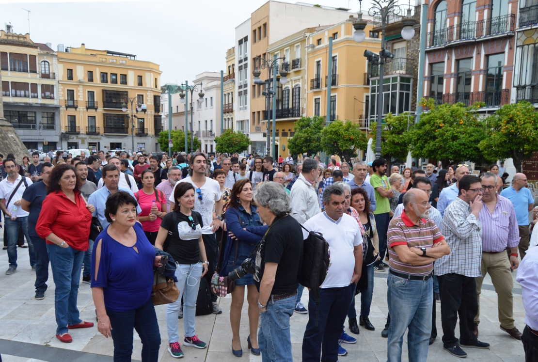
<svg viewBox="0 0 538 362">
<path fill-rule="evenodd" d="M 304 225 L 309 231 L 323 234 L 329 243 L 331 265 L 321 285 L 318 310 L 313 293 L 309 295 L 309 318 L 302 344 L 303 362 L 320 359 L 337 361 L 339 342 L 357 342 L 342 332 L 342 325 L 362 271 L 363 239 L 360 226 L 345 213 L 345 194 L 341 186 L 331 185 L 325 189 L 323 205 L 325 211 L 309 218 Z M 308 236 L 305 230 L 303 236 Z M 323 356 L 320 356 L 322 350 Z"/>
</svg>

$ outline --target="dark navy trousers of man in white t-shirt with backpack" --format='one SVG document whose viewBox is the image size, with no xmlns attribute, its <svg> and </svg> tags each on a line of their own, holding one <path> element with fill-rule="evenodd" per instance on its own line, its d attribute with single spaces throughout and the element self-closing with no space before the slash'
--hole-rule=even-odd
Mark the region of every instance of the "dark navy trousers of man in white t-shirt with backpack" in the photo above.
<svg viewBox="0 0 538 362">
<path fill-rule="evenodd" d="M 342 288 L 320 289 L 318 311 L 314 294 L 312 291 L 309 293 L 308 323 L 302 344 L 303 362 L 320 362 L 320 357 L 323 362 L 338 360 L 338 338 L 342 335 L 342 325 L 355 287 L 355 284 L 350 284 Z"/>
</svg>

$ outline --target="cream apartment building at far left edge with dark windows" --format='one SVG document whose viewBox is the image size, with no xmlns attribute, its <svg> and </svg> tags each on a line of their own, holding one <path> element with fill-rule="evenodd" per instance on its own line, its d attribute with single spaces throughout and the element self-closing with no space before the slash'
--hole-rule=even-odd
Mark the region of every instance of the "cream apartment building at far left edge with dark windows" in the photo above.
<svg viewBox="0 0 538 362">
<path fill-rule="evenodd" d="M 30 34 L 0 31 L 4 117 L 24 145 L 44 152 L 62 148 L 58 101 L 58 58 L 51 44 L 33 42 Z"/>
</svg>

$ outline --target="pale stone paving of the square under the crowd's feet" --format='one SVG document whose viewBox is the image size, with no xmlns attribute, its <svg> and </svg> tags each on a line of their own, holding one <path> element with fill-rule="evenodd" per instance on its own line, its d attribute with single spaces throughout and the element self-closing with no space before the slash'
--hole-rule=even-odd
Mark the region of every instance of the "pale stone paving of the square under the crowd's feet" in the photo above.
<svg viewBox="0 0 538 362">
<path fill-rule="evenodd" d="M 97 332 L 96 326 L 88 329 L 73 330 L 70 334 L 73 343 L 61 343 L 55 338 L 56 323 L 54 317 L 54 282 L 52 273 L 49 272 L 48 290 L 44 300 L 34 299 L 35 275 L 29 264 L 28 250 L 18 248 L 18 269 L 13 275 L 5 275 L 8 268 L 8 256 L 6 251 L 0 252 L 0 353 L 4 362 L 29 362 L 29 361 L 112 361 L 113 346 L 111 338 L 106 339 Z M 376 273 L 374 278 L 374 296 L 370 314 L 370 320 L 376 327 L 375 331 L 367 331 L 360 328 L 360 335 L 356 337 L 356 344 L 346 344 L 344 347 L 349 351 L 348 356 L 340 357 L 345 361 L 380 361 L 387 359 L 387 340 L 380 333 L 385 324 L 387 315 L 386 302 L 386 273 Z M 515 278 L 515 272 L 513 273 Z M 308 305 L 308 294 L 302 299 Z M 231 298 L 226 297 L 219 301 L 223 313 L 221 315 L 208 315 L 196 317 L 196 333 L 199 338 L 208 343 L 208 348 L 199 350 L 194 347 L 182 347 L 185 352 L 184 361 L 227 362 L 237 361 L 231 353 L 231 328 L 229 323 L 229 310 Z M 95 308 L 91 299 L 90 286 L 81 282 L 79 288 L 78 307 L 82 320 L 95 322 Z M 357 311 L 360 310 L 360 298 L 356 301 Z M 439 337 L 428 352 L 428 360 L 457 361 L 458 358 L 451 356 L 443 350 L 441 342 L 441 313 L 440 304 L 437 303 L 437 331 Z M 161 333 L 161 347 L 159 361 L 175 360 L 167 352 L 167 333 L 165 311 L 166 306 L 158 306 L 157 317 Z M 490 350 L 467 349 L 466 360 L 487 362 L 522 362 L 525 360 L 521 342 L 509 337 L 507 333 L 499 329 L 497 313 L 497 295 L 491 284 L 491 279 L 486 276 L 482 295 L 480 297 L 479 339 L 491 344 Z M 520 286 L 514 281 L 514 315 L 517 328 L 522 331 L 525 327 L 525 311 L 521 302 Z M 301 360 L 301 344 L 308 315 L 294 314 L 291 320 L 293 360 Z M 183 323 L 179 320 L 180 342 L 183 340 Z M 347 321 L 346 321 L 347 323 Z M 346 325 L 347 329 L 347 325 Z M 248 330 L 247 303 L 243 305 L 241 320 L 241 342 L 243 357 L 240 360 L 261 361 L 260 356 L 253 356 L 246 349 L 246 337 Z M 140 339 L 134 333 L 133 360 L 140 359 Z M 456 331 L 456 336 L 459 333 Z M 404 337 L 403 361 L 407 361 L 407 342 Z"/>
</svg>

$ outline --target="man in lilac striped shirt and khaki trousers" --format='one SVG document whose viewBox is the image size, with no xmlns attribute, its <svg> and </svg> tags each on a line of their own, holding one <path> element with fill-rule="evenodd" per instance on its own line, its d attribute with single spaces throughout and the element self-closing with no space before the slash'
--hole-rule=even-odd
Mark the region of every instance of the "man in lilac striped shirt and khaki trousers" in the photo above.
<svg viewBox="0 0 538 362">
<path fill-rule="evenodd" d="M 486 172 L 482 180 L 482 202 L 484 206 L 478 214 L 482 223 L 482 262 L 481 275 L 476 278 L 478 314 L 475 317 L 475 335 L 478 336 L 480 323 L 480 291 L 484 276 L 489 273 L 497 293 L 500 328 L 512 338 L 521 340 L 521 332 L 514 324 L 514 299 L 512 270 L 518 268 L 518 220 L 514 205 L 506 197 L 497 195 L 497 175 Z M 508 259 L 506 247 L 511 249 Z"/>
</svg>

